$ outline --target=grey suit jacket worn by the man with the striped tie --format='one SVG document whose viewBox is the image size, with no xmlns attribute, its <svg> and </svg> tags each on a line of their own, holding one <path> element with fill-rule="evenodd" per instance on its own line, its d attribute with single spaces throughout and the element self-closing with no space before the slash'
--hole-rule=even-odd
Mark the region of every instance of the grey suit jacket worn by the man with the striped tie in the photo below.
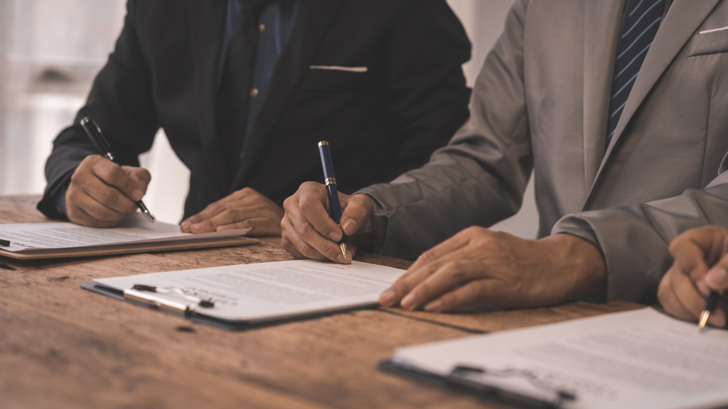
<svg viewBox="0 0 728 409">
<path fill-rule="evenodd" d="M 728 0 L 675 0 L 605 151 L 625 0 L 518 0 L 471 118 L 424 167 L 364 189 L 379 253 L 414 258 L 513 215 L 534 170 L 539 236 L 601 248 L 608 298 L 654 295 L 668 243 L 728 226 Z"/>
</svg>

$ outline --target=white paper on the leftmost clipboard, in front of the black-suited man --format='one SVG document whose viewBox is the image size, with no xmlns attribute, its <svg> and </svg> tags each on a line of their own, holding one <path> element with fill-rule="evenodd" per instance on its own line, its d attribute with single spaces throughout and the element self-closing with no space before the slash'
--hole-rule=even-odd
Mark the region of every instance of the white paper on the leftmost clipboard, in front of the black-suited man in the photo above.
<svg viewBox="0 0 728 409">
<path fill-rule="evenodd" d="M 189 234 L 169 223 L 149 223 L 141 213 L 129 215 L 112 229 L 96 229 L 74 223 L 18 223 L 0 224 L 0 239 L 9 240 L 2 250 L 23 253 L 41 253 L 47 249 L 99 247 L 119 244 L 151 242 L 178 242 L 206 238 L 242 236 L 250 229 L 213 231 Z"/>
</svg>

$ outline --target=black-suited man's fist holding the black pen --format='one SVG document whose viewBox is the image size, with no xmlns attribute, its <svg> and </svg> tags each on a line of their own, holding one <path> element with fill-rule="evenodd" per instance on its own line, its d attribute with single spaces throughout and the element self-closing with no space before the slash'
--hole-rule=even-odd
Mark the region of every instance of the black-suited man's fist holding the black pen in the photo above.
<svg viewBox="0 0 728 409">
<path fill-rule="evenodd" d="M 68 220 L 92 227 L 114 227 L 137 211 L 151 175 L 141 167 L 119 166 L 100 155 L 87 156 L 66 189 Z"/>
</svg>

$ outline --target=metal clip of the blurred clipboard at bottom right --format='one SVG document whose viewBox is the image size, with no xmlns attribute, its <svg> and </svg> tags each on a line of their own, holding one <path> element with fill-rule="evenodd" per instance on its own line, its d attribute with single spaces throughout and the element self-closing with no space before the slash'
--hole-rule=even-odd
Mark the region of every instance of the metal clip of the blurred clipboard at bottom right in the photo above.
<svg viewBox="0 0 728 409">
<path fill-rule="evenodd" d="M 535 397 L 527 397 L 525 395 L 507 392 L 494 386 L 488 386 L 478 381 L 478 376 L 486 374 L 497 378 L 510 378 L 512 376 L 523 378 L 538 389 L 553 393 L 553 399 L 542 400 Z M 511 399 L 515 398 L 515 400 L 526 403 L 529 407 L 558 409 L 562 408 L 564 403 L 577 399 L 575 394 L 547 384 L 547 382 L 540 380 L 529 370 L 485 370 L 483 368 L 472 367 L 469 365 L 458 365 L 448 376 L 445 377 L 445 380 L 452 386 L 467 389 L 468 391 L 475 392 L 476 394 L 510 395 L 507 397 L 510 397 Z"/>
</svg>

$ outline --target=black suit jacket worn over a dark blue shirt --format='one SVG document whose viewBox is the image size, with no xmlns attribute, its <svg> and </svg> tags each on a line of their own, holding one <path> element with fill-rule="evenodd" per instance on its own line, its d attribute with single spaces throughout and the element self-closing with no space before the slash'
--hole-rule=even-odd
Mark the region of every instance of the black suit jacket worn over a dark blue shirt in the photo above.
<svg viewBox="0 0 728 409">
<path fill-rule="evenodd" d="M 191 171 L 185 217 L 246 186 L 281 204 L 302 182 L 322 180 L 320 140 L 331 144 L 341 191 L 387 181 L 427 162 L 469 115 L 461 65 L 470 42 L 445 0 L 304 0 L 240 167 L 226 171 L 215 130 L 225 9 L 225 0 L 129 0 L 75 122 L 95 119 L 133 166 L 164 128 Z M 54 192 L 96 153 L 78 125 L 58 135 L 41 212 L 60 216 Z"/>
</svg>

